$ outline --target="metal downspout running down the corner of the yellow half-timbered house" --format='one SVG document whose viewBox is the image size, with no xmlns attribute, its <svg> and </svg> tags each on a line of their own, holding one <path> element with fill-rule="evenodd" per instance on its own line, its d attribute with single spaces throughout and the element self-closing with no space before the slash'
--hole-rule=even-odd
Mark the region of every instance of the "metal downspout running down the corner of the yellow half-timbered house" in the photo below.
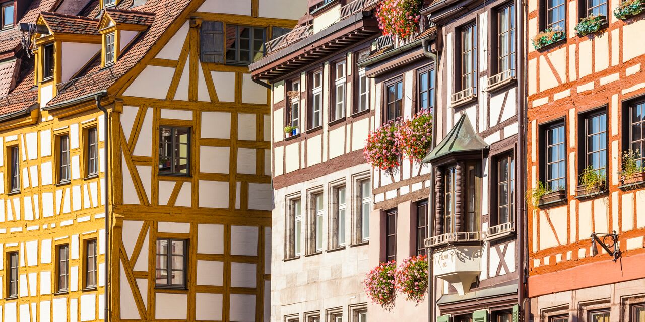
<svg viewBox="0 0 645 322">
<path fill-rule="evenodd" d="M 105 313 L 104 313 L 103 319 L 104 319 L 104 321 L 111 321 L 112 320 L 111 317 L 110 317 L 110 275 L 111 275 L 111 270 L 110 270 L 110 227 L 111 226 L 110 226 L 110 216 L 109 216 L 110 211 L 108 209 L 108 207 L 109 207 L 109 203 L 108 203 L 108 191 L 109 190 L 108 189 L 110 187 L 110 184 L 109 184 L 109 180 L 110 180 L 109 169 L 110 169 L 110 166 L 109 166 L 109 163 L 108 163 L 108 160 L 110 160 L 108 158 L 108 156 L 110 155 L 110 143 L 109 143 L 110 140 L 108 140 L 108 135 L 109 135 L 110 131 L 108 130 L 108 124 L 109 124 L 108 110 L 101 105 L 101 97 L 103 97 L 103 93 L 97 93 L 96 95 L 94 95 L 94 100 L 96 101 L 96 107 L 98 109 L 100 109 L 104 114 L 104 119 L 103 119 L 103 131 L 104 131 L 104 135 L 103 135 L 103 137 L 104 137 L 104 140 L 103 140 L 103 142 L 104 142 L 103 160 L 105 162 L 105 169 L 104 169 L 105 180 L 104 180 L 104 183 L 103 183 L 103 191 L 104 191 L 104 194 L 105 194 L 105 197 L 104 197 L 104 199 L 105 199 L 105 207 L 104 207 L 105 208 L 105 218 L 104 218 L 105 219 L 105 294 L 104 294 L 104 296 L 105 296 L 105 298 L 104 298 L 104 301 L 105 301 L 105 303 L 104 303 Z"/>
</svg>

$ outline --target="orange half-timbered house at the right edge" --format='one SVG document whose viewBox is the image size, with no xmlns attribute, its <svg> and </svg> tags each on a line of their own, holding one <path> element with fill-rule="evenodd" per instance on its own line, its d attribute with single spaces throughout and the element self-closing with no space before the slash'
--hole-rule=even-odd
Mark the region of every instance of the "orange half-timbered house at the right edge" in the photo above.
<svg viewBox="0 0 645 322">
<path fill-rule="evenodd" d="M 624 5 L 528 1 L 533 321 L 645 321 L 645 20 Z"/>
</svg>

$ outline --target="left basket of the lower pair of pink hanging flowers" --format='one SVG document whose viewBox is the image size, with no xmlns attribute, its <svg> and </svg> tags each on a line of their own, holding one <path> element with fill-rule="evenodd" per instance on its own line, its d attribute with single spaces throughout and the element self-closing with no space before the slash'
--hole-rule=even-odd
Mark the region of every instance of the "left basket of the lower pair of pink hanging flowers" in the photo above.
<svg viewBox="0 0 645 322">
<path fill-rule="evenodd" d="M 397 296 L 394 280 L 396 270 L 395 261 L 387 261 L 370 270 L 363 281 L 365 293 L 370 301 L 388 311 L 394 308 Z"/>
</svg>

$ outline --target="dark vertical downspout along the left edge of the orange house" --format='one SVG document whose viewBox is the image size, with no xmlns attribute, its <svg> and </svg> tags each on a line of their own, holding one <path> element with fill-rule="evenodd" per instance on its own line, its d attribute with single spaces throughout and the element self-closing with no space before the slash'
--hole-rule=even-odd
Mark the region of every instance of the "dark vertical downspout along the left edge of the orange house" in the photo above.
<svg viewBox="0 0 645 322">
<path fill-rule="evenodd" d="M 515 164 L 515 169 L 517 169 L 516 175 L 517 187 L 520 193 L 516 193 L 517 198 L 517 240 L 519 242 L 518 251 L 519 254 L 517 258 L 520 259 L 521 265 L 519 267 L 518 276 L 517 276 L 517 304 L 519 305 L 520 312 L 523 316 L 523 320 L 528 322 L 530 321 L 530 301 L 527 301 L 527 292 L 528 292 L 528 233 L 526 232 L 526 198 L 524 198 L 524 192 L 526 191 L 526 107 L 528 103 L 526 101 L 526 57 L 524 57 L 524 51 L 526 50 L 526 26 L 524 25 L 524 0 L 515 0 L 516 8 L 518 11 L 517 14 L 517 26 L 521 28 L 521 32 L 518 32 L 517 37 L 517 57 L 522 57 L 522 61 L 517 64 L 517 80 L 519 91 L 517 95 L 517 118 L 519 131 L 517 131 L 517 164 Z M 524 305 L 526 301 L 526 305 Z M 518 317 L 522 321 L 522 317 Z"/>
</svg>

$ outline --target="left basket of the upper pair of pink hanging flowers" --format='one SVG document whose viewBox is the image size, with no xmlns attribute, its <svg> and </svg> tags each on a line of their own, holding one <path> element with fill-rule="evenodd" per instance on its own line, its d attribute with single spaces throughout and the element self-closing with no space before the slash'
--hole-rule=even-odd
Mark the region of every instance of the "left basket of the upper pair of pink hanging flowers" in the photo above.
<svg viewBox="0 0 645 322">
<path fill-rule="evenodd" d="M 388 122 L 375 129 L 367 137 L 363 155 L 372 167 L 386 171 L 392 175 L 397 171 L 401 162 L 401 151 L 396 144 L 399 122 Z"/>
</svg>

